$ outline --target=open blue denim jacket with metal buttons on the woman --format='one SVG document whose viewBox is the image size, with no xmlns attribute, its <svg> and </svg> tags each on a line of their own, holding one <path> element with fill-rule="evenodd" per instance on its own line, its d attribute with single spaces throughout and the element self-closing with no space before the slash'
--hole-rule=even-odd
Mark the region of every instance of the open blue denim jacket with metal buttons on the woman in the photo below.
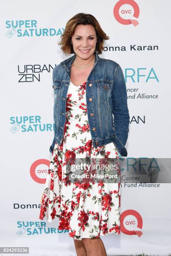
<svg viewBox="0 0 171 256">
<path fill-rule="evenodd" d="M 75 58 L 74 54 L 53 70 L 54 140 L 49 148 L 51 153 L 55 142 L 59 145 L 62 143 L 66 95 L 70 84 L 71 64 Z M 92 146 L 113 142 L 121 156 L 127 156 L 125 144 L 130 116 L 123 71 L 115 61 L 100 58 L 97 52 L 95 52 L 94 67 L 87 78 L 86 101 Z"/>
</svg>

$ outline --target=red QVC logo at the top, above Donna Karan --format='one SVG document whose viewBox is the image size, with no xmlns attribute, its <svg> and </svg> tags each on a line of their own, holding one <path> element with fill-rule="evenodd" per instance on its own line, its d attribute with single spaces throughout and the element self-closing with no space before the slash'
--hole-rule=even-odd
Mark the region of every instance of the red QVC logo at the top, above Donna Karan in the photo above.
<svg viewBox="0 0 171 256">
<path fill-rule="evenodd" d="M 113 15 L 119 23 L 123 25 L 133 24 L 135 27 L 139 23 L 133 17 L 138 19 L 140 9 L 134 0 L 119 0 L 113 9 Z"/>
</svg>

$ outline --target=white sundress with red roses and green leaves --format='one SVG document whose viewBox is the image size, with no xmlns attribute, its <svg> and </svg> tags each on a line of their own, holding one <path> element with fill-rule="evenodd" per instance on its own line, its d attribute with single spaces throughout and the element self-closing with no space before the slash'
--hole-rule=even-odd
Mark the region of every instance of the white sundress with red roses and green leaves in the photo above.
<svg viewBox="0 0 171 256">
<path fill-rule="evenodd" d="M 66 158 L 121 157 L 114 143 L 92 146 L 85 92 L 86 82 L 70 82 L 64 136 L 52 152 L 39 215 L 48 222 L 59 218 L 58 228 L 77 240 L 120 234 L 120 182 L 71 183 L 65 175 Z"/>
</svg>

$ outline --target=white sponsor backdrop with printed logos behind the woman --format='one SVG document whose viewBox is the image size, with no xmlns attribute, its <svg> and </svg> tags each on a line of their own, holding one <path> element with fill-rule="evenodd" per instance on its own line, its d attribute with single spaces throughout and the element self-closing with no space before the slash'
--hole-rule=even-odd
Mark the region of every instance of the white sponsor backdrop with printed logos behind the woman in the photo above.
<svg viewBox="0 0 171 256">
<path fill-rule="evenodd" d="M 54 138 L 52 71 L 69 58 L 57 43 L 75 14 L 97 18 L 110 36 L 100 57 L 123 69 L 128 158 L 171 157 L 170 10 L 170 0 L 1 3 L 1 247 L 29 247 L 33 256 L 76 255 L 58 221 L 38 218 Z M 171 253 L 170 196 L 169 183 L 123 181 L 121 233 L 101 236 L 107 255 Z"/>
</svg>

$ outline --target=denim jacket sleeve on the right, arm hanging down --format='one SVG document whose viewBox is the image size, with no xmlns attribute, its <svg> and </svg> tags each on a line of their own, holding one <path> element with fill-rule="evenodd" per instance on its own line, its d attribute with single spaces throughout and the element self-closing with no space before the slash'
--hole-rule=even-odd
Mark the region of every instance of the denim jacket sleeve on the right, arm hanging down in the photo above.
<svg viewBox="0 0 171 256">
<path fill-rule="evenodd" d="M 128 127 L 130 123 L 129 110 L 127 105 L 127 90 L 125 78 L 120 65 L 117 65 L 112 88 L 112 102 L 114 115 L 115 136 L 125 146 L 128 139 Z"/>
</svg>

